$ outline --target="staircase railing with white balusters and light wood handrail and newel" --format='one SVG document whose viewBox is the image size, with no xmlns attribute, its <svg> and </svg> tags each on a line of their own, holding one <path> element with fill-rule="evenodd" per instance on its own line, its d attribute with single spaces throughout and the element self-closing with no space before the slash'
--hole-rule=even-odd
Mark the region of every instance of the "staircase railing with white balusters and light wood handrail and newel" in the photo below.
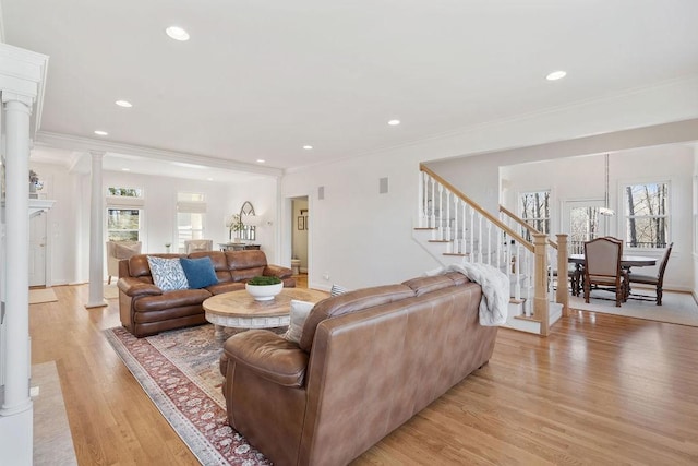
<svg viewBox="0 0 698 466">
<path fill-rule="evenodd" d="M 527 241 L 518 228 L 490 214 L 429 167 L 421 165 L 420 170 L 417 229 L 431 231 L 429 242 L 444 243 L 444 256 L 462 256 L 464 261 L 490 264 L 504 272 L 512 298 L 522 304 L 516 318 L 540 322 L 540 334 L 547 335 L 549 296 L 552 299 L 553 295 L 547 261 L 556 260 L 556 254 L 546 250 L 547 237 L 532 232 L 533 242 Z M 566 248 L 566 236 L 564 242 Z M 566 252 L 564 255 L 566 264 Z M 562 303 L 566 313 L 566 299 Z"/>
</svg>

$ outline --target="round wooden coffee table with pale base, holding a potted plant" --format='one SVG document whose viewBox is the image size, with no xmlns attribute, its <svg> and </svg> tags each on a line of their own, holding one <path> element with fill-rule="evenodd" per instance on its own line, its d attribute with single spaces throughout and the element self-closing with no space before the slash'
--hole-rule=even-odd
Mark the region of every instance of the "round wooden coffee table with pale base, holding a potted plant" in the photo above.
<svg viewBox="0 0 698 466">
<path fill-rule="evenodd" d="M 255 301 L 244 289 L 212 296 L 203 302 L 206 320 L 215 325 L 215 335 L 221 327 L 273 328 L 290 322 L 291 299 L 318 302 L 329 294 L 308 288 L 284 288 L 269 301 Z"/>
</svg>

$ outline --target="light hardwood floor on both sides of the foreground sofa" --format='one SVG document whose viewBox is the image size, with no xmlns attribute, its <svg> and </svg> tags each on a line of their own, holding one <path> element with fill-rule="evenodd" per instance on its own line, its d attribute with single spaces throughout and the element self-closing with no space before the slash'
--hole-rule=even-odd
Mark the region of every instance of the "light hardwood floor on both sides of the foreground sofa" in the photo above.
<svg viewBox="0 0 698 466">
<path fill-rule="evenodd" d="M 101 334 L 117 300 L 53 289 L 32 360 L 56 360 L 79 464 L 197 464 Z M 354 464 L 698 464 L 698 328 L 579 311 L 547 338 L 500 330 L 488 366 Z"/>
</svg>

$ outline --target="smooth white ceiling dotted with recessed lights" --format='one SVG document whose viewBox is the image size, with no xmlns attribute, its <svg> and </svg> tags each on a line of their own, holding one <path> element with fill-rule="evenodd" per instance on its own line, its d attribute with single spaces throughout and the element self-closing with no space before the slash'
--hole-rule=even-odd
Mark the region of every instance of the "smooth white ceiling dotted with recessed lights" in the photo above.
<svg viewBox="0 0 698 466">
<path fill-rule="evenodd" d="M 0 5 L 4 41 L 50 57 L 41 155 L 96 144 L 115 169 L 300 167 L 698 74 L 697 0 Z"/>
</svg>

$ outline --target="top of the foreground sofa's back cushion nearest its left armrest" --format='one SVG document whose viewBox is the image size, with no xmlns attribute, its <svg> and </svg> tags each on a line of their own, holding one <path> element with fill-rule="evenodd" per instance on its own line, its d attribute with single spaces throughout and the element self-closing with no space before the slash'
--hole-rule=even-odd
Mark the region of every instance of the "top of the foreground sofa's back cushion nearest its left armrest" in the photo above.
<svg viewBox="0 0 698 466">
<path fill-rule="evenodd" d="M 452 282 L 453 285 L 453 282 Z M 315 304 L 303 325 L 300 347 L 310 353 L 315 337 L 315 328 L 325 319 L 349 314 L 375 306 L 386 304 L 414 296 L 414 291 L 405 285 L 384 285 L 348 291 L 327 298 Z"/>
</svg>

